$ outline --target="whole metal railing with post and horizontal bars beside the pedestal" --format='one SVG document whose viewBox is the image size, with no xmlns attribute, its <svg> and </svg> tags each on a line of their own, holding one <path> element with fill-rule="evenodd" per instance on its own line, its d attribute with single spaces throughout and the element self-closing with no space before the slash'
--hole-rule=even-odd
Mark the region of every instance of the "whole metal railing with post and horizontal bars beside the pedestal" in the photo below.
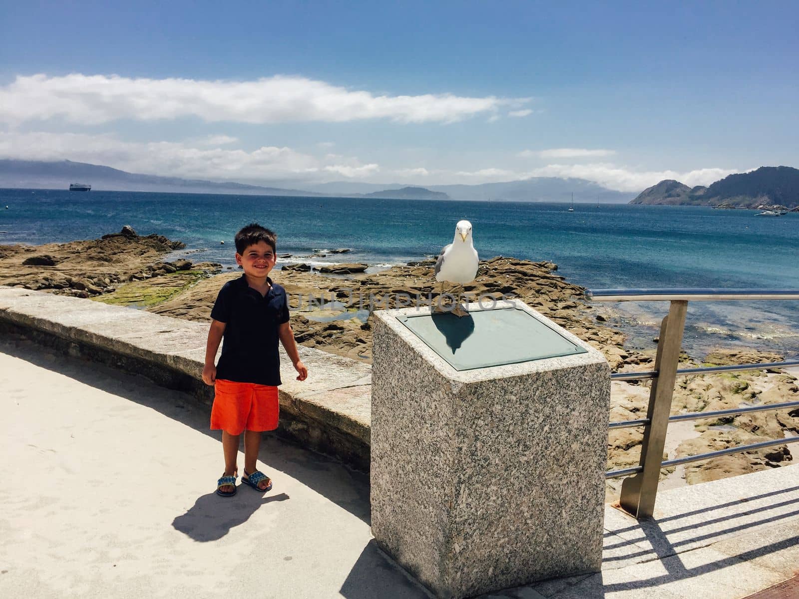
<svg viewBox="0 0 799 599">
<path fill-rule="evenodd" d="M 658 339 L 658 354 L 654 361 L 654 371 L 619 372 L 610 375 L 613 380 L 652 379 L 649 405 L 646 418 L 610 422 L 609 430 L 643 426 L 641 458 L 638 466 L 622 470 L 610 470 L 605 478 L 625 478 L 622 482 L 622 494 L 619 503 L 622 509 L 635 518 L 651 518 L 654 513 L 654 502 L 658 494 L 660 470 L 669 466 L 679 466 L 689 462 L 717 458 L 721 455 L 737 454 L 744 451 L 762 449 L 764 447 L 785 445 L 799 442 L 799 435 L 781 439 L 750 443 L 749 445 L 729 447 L 725 450 L 711 451 L 706 454 L 690 455 L 663 461 L 663 447 L 666 444 L 666 431 L 669 422 L 715 418 L 717 416 L 738 415 L 765 410 L 781 410 L 799 407 L 799 401 L 777 403 L 767 406 L 752 406 L 720 410 L 714 412 L 694 412 L 670 416 L 671 399 L 674 393 L 674 382 L 677 376 L 703 375 L 710 372 L 729 372 L 761 370 L 786 366 L 799 366 L 799 360 L 785 362 L 769 362 L 757 364 L 741 364 L 736 366 L 718 366 L 702 368 L 678 368 L 682 334 L 686 323 L 686 311 L 689 301 L 714 300 L 799 300 L 799 289 L 594 289 L 586 291 L 588 300 L 598 302 L 640 302 L 669 301 L 669 314 L 663 319 Z"/>
</svg>

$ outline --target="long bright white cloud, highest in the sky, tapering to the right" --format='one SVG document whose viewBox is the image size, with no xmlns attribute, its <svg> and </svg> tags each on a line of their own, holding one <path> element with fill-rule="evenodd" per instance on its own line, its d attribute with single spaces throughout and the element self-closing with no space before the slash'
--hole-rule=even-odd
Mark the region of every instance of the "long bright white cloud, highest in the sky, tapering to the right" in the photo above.
<svg viewBox="0 0 799 599">
<path fill-rule="evenodd" d="M 18 76 L 0 87 L 0 121 L 62 118 L 84 125 L 117 119 L 157 121 L 197 117 L 206 122 L 455 122 L 502 106 L 519 108 L 530 98 L 463 97 L 451 93 L 375 96 L 314 81 L 276 75 L 256 81 L 147 79 L 73 73 Z"/>
</svg>

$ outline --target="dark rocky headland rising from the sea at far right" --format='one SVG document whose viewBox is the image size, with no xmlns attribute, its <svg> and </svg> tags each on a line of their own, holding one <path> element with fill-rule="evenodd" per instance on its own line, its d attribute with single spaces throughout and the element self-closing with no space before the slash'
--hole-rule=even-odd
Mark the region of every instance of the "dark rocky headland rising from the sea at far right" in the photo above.
<svg viewBox="0 0 799 599">
<path fill-rule="evenodd" d="M 688 187 L 672 179 L 644 189 L 630 204 L 681 204 L 734 208 L 758 208 L 775 204 L 799 206 L 799 169 L 761 166 L 751 173 L 729 175 L 709 187 Z"/>
</svg>

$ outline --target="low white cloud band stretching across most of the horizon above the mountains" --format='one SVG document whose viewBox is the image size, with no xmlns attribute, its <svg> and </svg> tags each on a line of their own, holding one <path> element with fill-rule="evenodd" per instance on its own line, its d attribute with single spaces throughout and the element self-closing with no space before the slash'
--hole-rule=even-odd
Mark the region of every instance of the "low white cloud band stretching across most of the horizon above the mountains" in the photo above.
<svg viewBox="0 0 799 599">
<path fill-rule="evenodd" d="M 268 181 L 296 180 L 375 180 L 388 178 L 427 184 L 487 183 L 519 180 L 528 177 L 575 177 L 594 181 L 603 187 L 625 192 L 639 192 L 663 179 L 676 179 L 690 186 L 707 185 L 737 173 L 735 169 L 636 170 L 610 163 L 582 165 L 551 164 L 527 171 L 486 168 L 454 171 L 428 167 L 384 168 L 356 157 L 324 153 L 314 156 L 294 149 L 262 146 L 244 150 L 221 148 L 203 143 L 209 138 L 182 142 L 149 143 L 121 141 L 113 135 L 85 133 L 17 133 L 0 131 L 0 158 L 34 161 L 71 160 L 108 165 L 132 173 L 190 179 Z M 225 140 L 221 140 L 225 141 Z M 233 142 L 231 142 L 233 143 Z"/>
</svg>

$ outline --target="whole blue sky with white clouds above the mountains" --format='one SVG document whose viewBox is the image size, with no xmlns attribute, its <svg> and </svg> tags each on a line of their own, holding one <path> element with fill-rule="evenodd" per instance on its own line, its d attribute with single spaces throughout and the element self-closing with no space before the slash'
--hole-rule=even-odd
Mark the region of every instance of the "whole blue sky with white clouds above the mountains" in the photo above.
<svg viewBox="0 0 799 599">
<path fill-rule="evenodd" d="M 797 2 L 0 2 L 0 157 L 640 190 L 799 166 Z"/>
</svg>

